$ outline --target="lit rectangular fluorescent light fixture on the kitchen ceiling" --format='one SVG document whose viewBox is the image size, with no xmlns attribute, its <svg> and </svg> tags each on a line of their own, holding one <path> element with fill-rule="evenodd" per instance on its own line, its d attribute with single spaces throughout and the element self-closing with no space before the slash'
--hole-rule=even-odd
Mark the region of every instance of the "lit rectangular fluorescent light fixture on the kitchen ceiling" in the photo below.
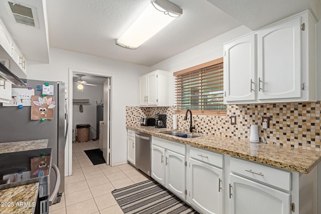
<svg viewBox="0 0 321 214">
<path fill-rule="evenodd" d="M 150 2 L 151 4 L 135 22 L 116 40 L 116 45 L 136 49 L 183 14 L 180 7 L 167 0 L 151 0 Z M 159 13 L 159 11 L 163 13 Z"/>
</svg>

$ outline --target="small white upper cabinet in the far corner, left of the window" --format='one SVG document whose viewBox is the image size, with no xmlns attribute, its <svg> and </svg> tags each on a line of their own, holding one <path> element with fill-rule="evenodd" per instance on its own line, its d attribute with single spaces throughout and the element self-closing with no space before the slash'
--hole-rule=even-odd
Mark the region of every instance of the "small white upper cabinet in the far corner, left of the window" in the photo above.
<svg viewBox="0 0 321 214">
<path fill-rule="evenodd" d="M 156 70 L 139 78 L 140 106 L 169 105 L 169 74 Z"/>
</svg>

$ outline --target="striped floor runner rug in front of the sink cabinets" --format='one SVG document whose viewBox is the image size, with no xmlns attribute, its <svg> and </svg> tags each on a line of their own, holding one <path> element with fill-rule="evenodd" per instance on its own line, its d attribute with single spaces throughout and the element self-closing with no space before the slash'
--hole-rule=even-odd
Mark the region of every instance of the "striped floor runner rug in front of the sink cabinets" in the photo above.
<svg viewBox="0 0 321 214">
<path fill-rule="evenodd" d="M 155 180 L 111 192 L 124 213 L 198 213 Z"/>
</svg>

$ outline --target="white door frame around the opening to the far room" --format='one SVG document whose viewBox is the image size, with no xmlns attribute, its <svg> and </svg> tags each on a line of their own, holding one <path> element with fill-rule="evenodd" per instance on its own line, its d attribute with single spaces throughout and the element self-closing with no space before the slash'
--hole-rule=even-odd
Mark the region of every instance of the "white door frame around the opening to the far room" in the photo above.
<svg viewBox="0 0 321 214">
<path fill-rule="evenodd" d="M 88 75 L 94 75 L 94 76 L 99 76 L 99 77 L 105 77 L 105 78 L 110 78 L 110 97 L 109 97 L 109 105 L 111 106 L 111 101 L 112 101 L 112 81 L 113 81 L 113 76 L 112 75 L 108 75 L 105 73 L 99 73 L 99 72 L 94 72 L 94 71 L 88 71 L 88 70 L 82 70 L 82 69 L 77 69 L 77 68 L 69 68 L 69 86 L 68 86 L 68 112 L 69 112 L 69 130 L 68 130 L 68 146 L 66 146 L 65 148 L 65 169 L 68 168 L 68 173 L 66 174 L 66 170 L 65 170 L 65 175 L 66 176 L 70 176 L 72 175 L 72 128 L 73 124 L 72 124 L 72 118 L 73 118 L 73 74 L 74 73 L 81 73 L 81 74 L 88 74 Z M 110 107 L 110 111 L 109 111 L 109 121 L 110 124 L 112 121 L 112 116 L 111 116 L 111 107 Z M 107 145 L 110 148 L 111 151 L 111 125 L 109 126 L 109 145 Z M 112 153 L 110 152 L 110 159 L 111 159 Z M 68 164 L 66 164 L 66 160 L 68 160 Z M 110 164 L 110 163 L 109 163 Z"/>
</svg>

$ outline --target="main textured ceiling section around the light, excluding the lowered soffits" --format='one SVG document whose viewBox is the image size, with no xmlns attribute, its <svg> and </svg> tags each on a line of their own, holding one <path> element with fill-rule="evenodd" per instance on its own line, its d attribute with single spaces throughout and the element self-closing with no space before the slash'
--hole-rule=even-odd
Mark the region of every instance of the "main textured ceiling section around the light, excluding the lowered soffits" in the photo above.
<svg viewBox="0 0 321 214">
<path fill-rule="evenodd" d="M 183 15 L 136 50 L 115 40 L 149 0 L 55 0 L 47 2 L 50 46 L 152 66 L 240 25 L 206 0 L 172 0 Z"/>
</svg>

